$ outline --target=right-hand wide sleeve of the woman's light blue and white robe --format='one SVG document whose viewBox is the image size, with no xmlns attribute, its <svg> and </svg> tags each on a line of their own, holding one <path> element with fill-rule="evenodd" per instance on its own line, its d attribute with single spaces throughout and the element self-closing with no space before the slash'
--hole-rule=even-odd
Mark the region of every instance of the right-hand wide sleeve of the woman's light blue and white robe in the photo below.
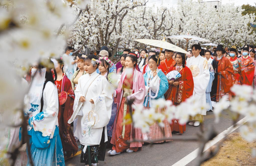
<svg viewBox="0 0 256 166">
<path fill-rule="evenodd" d="M 149 88 L 151 90 L 151 98 L 161 98 L 168 90 L 169 84 L 165 74 L 159 71 L 157 75 L 152 79 Z M 153 93 L 152 93 L 153 92 Z"/>
</svg>

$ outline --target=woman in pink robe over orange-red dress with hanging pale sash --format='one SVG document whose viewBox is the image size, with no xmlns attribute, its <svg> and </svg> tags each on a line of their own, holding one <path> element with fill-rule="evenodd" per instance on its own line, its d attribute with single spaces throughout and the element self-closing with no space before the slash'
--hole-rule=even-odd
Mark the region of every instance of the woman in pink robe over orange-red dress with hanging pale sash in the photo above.
<svg viewBox="0 0 256 166">
<path fill-rule="evenodd" d="M 110 155 L 120 154 L 123 151 L 128 153 L 137 152 L 141 149 L 143 142 L 128 143 L 131 138 L 143 140 L 141 129 L 132 127 L 132 124 L 125 124 L 124 117 L 129 115 L 130 108 L 126 101 L 133 100 L 135 106 L 143 104 L 145 98 L 145 82 L 143 74 L 137 65 L 139 54 L 129 52 L 125 58 L 126 70 L 121 75 L 121 80 L 114 93 L 115 103 L 117 103 L 117 116 L 113 126 L 112 151 Z"/>
</svg>

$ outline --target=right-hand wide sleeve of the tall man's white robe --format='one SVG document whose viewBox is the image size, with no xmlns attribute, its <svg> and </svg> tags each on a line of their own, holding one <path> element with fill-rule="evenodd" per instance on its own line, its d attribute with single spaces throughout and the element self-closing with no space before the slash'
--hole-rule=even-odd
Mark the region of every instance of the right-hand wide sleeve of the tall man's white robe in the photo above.
<svg viewBox="0 0 256 166">
<path fill-rule="evenodd" d="M 208 68 L 208 62 L 205 59 L 203 62 L 202 67 L 202 74 L 198 75 L 196 77 L 193 77 L 194 79 L 194 93 L 198 95 L 203 95 L 206 91 L 206 87 L 208 86 L 209 80 L 210 80 L 210 72 Z"/>
</svg>

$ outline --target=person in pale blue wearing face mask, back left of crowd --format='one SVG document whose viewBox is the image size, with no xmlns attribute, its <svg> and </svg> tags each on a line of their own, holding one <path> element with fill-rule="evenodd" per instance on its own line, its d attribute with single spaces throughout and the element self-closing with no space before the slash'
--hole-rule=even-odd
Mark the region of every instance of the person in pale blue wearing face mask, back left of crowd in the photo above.
<svg viewBox="0 0 256 166">
<path fill-rule="evenodd" d="M 74 72 L 76 71 L 75 61 L 73 60 L 73 48 L 71 46 L 67 46 L 65 49 L 65 54 L 63 55 L 63 58 L 65 59 L 65 62 L 69 62 L 69 64 L 64 65 L 64 71 L 67 75 L 67 78 L 71 80 Z"/>
</svg>

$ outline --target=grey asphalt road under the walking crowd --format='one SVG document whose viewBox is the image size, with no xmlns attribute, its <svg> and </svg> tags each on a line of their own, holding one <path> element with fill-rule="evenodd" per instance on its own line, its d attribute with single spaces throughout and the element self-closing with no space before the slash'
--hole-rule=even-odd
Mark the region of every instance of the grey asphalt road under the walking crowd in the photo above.
<svg viewBox="0 0 256 166">
<path fill-rule="evenodd" d="M 214 115 L 209 112 L 204 116 L 205 126 L 213 125 L 218 133 L 226 130 L 232 125 L 230 114 L 223 112 L 220 122 L 215 124 Z M 200 132 L 200 127 L 187 125 L 183 135 L 173 134 L 173 137 L 186 137 L 196 135 Z M 99 161 L 98 166 L 171 166 L 187 156 L 198 148 L 197 142 L 191 141 L 169 141 L 166 143 L 158 143 L 153 145 L 143 145 L 142 151 L 127 153 L 123 152 L 115 156 L 106 154 L 105 161 Z M 107 149 L 108 151 L 109 149 Z M 193 166 L 195 160 L 192 160 L 187 166 Z M 65 164 L 74 166 L 83 166 L 80 163 L 80 155 L 67 159 Z"/>
</svg>

